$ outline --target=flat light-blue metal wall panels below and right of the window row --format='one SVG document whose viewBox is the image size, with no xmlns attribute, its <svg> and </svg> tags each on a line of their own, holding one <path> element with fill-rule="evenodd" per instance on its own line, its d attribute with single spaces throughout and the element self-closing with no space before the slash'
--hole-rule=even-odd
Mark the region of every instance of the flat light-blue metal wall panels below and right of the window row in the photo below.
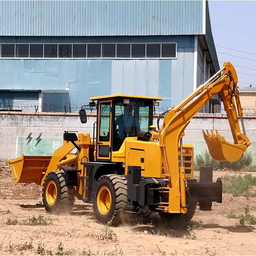
<svg viewBox="0 0 256 256">
<path fill-rule="evenodd" d="M 69 88 L 71 104 L 127 93 L 159 96 L 166 107 L 176 105 L 193 91 L 195 37 L 170 36 L 169 40 L 177 42 L 177 59 L 1 59 L 0 89 Z"/>
</svg>

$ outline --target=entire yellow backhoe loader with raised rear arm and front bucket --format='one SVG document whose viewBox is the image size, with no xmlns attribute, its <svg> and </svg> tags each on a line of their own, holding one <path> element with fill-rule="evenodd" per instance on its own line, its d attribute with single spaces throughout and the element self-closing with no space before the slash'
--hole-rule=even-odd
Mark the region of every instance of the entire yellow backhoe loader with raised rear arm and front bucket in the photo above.
<svg viewBox="0 0 256 256">
<path fill-rule="evenodd" d="M 42 185 L 45 209 L 53 214 L 70 212 L 77 196 L 92 203 L 102 223 L 119 223 L 124 212 L 145 216 L 158 212 L 162 218 L 189 221 L 196 204 L 200 210 L 211 210 L 212 202 L 222 202 L 222 183 L 220 178 L 216 182 L 193 179 L 193 145 L 182 143 L 184 130 L 219 92 L 234 143 L 217 131 L 203 136 L 214 159 L 240 159 L 251 143 L 245 134 L 237 82 L 234 67 L 224 63 L 207 82 L 158 117 L 159 126 L 164 116 L 159 130 L 153 125 L 153 112 L 162 98 L 123 94 L 90 98 L 92 102 L 79 115 L 86 123 L 85 109 L 97 109 L 93 136 L 65 131 L 63 146 L 53 156 L 22 154 L 8 159 L 14 182 Z"/>
</svg>

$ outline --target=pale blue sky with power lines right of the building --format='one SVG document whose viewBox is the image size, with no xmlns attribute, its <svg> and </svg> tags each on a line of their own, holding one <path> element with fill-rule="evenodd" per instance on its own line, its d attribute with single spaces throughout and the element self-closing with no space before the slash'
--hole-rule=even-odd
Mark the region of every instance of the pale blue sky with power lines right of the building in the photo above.
<svg viewBox="0 0 256 256">
<path fill-rule="evenodd" d="M 256 1 L 210 0 L 208 4 L 220 68 L 231 62 L 238 86 L 256 87 Z"/>
</svg>

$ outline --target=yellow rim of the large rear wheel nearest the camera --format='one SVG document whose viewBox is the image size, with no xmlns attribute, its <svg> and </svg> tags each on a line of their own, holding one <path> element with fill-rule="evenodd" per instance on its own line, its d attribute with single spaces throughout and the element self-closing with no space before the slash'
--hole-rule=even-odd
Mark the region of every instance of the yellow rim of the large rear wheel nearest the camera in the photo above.
<svg viewBox="0 0 256 256">
<path fill-rule="evenodd" d="M 107 187 L 100 188 L 97 195 L 97 206 L 102 215 L 108 214 L 112 203 L 110 191 Z"/>
</svg>

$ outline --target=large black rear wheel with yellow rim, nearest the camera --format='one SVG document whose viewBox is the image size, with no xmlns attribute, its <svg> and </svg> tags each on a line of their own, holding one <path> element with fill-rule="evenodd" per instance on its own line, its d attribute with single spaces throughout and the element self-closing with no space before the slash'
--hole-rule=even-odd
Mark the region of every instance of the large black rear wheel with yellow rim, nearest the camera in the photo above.
<svg viewBox="0 0 256 256">
<path fill-rule="evenodd" d="M 118 225 L 124 220 L 127 207 L 127 180 L 115 174 L 101 176 L 93 188 L 92 207 L 95 218 Z"/>
</svg>

